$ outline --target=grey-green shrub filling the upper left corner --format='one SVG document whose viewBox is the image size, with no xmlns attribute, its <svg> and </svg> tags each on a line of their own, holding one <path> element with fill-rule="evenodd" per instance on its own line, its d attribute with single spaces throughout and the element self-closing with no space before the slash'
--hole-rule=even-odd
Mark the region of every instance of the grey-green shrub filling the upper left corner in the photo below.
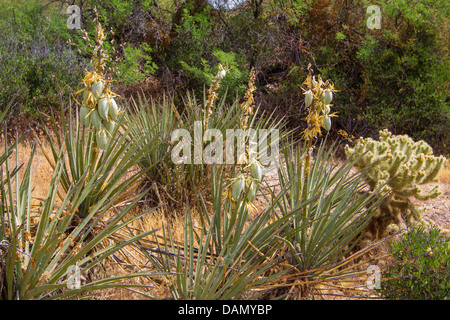
<svg viewBox="0 0 450 320">
<path fill-rule="evenodd" d="M 0 104 L 17 94 L 24 111 L 48 111 L 62 91 L 75 88 L 85 64 L 65 43 L 66 16 L 46 12 L 38 1 L 0 6 Z"/>
</svg>

